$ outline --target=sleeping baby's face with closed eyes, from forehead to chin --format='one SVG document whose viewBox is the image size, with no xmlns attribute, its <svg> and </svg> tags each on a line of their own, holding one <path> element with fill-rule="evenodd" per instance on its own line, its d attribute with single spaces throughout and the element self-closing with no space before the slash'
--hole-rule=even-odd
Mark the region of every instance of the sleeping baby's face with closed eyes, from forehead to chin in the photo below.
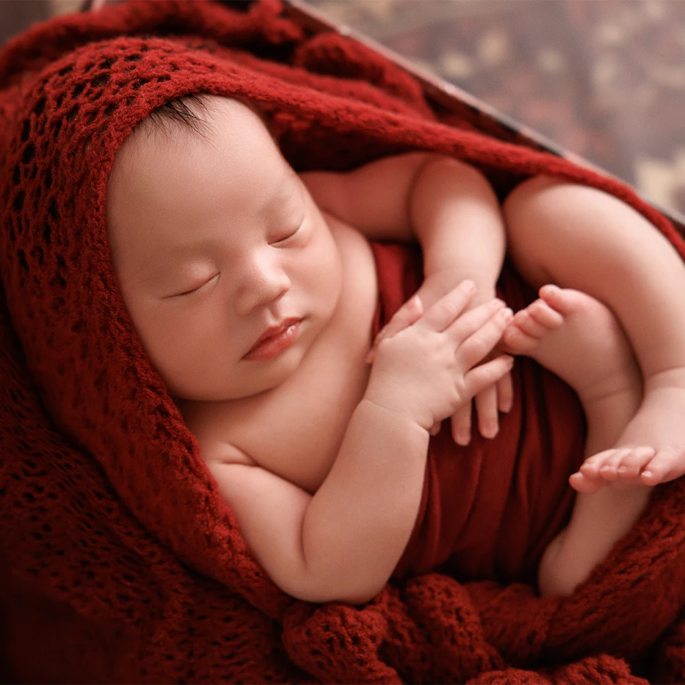
<svg viewBox="0 0 685 685">
<path fill-rule="evenodd" d="M 206 102 L 204 137 L 137 129 L 108 186 L 129 314 L 171 395 L 195 401 L 288 379 L 342 285 L 336 242 L 259 117 L 233 100 Z"/>
</svg>

